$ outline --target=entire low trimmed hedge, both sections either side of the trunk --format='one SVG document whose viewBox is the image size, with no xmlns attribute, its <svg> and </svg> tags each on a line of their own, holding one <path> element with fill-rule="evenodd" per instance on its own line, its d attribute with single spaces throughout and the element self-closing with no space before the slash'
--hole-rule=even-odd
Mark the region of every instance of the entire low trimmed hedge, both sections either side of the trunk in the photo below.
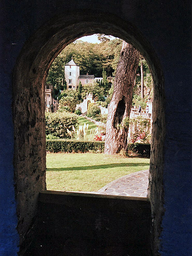
<svg viewBox="0 0 192 256">
<path fill-rule="evenodd" d="M 104 141 L 77 141 L 77 140 L 46 140 L 46 150 L 52 153 L 85 153 L 100 152 L 103 153 L 105 148 Z M 142 156 L 150 156 L 150 144 L 135 143 L 129 144 L 127 151 L 138 153 Z"/>
</svg>

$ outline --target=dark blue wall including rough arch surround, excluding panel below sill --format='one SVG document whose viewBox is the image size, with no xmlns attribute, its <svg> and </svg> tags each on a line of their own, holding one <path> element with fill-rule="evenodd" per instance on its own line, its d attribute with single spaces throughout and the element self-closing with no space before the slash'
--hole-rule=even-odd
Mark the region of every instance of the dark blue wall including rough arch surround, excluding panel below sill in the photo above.
<svg viewBox="0 0 192 256">
<path fill-rule="evenodd" d="M 48 68 L 68 43 L 93 33 L 112 34 L 132 43 L 150 66 L 154 78 L 149 177 L 153 251 L 154 255 L 158 251 L 189 254 L 190 1 L 30 0 L 18 4 L 7 0 L 1 10 L 1 254 L 17 253 L 19 237 L 21 242 L 35 217 L 38 191 L 45 188 L 42 84 Z"/>
</svg>

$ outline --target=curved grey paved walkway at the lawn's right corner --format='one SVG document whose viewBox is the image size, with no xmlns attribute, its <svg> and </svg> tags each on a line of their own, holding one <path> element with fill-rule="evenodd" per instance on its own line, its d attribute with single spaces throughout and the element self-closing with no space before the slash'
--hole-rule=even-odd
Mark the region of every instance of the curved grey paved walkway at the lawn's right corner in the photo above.
<svg viewBox="0 0 192 256">
<path fill-rule="evenodd" d="M 148 170 L 141 170 L 113 180 L 100 190 L 100 194 L 114 196 L 147 197 Z"/>
</svg>

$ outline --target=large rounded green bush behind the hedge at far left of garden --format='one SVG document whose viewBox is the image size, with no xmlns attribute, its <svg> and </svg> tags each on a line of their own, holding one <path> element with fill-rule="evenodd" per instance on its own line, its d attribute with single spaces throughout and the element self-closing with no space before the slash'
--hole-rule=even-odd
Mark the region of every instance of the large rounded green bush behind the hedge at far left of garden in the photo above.
<svg viewBox="0 0 192 256">
<path fill-rule="evenodd" d="M 70 138 L 67 129 L 73 129 L 78 123 L 78 117 L 75 114 L 63 113 L 46 113 L 46 135 L 53 135 L 59 138 Z"/>
</svg>

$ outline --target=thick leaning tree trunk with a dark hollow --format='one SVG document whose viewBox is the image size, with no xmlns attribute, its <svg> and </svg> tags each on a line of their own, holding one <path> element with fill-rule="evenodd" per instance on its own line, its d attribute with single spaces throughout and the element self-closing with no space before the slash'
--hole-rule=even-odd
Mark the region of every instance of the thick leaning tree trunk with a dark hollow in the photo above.
<svg viewBox="0 0 192 256">
<path fill-rule="evenodd" d="M 123 42 L 117 66 L 114 93 L 108 107 L 106 124 L 105 154 L 116 154 L 124 148 L 126 132 L 117 129 L 122 119 L 129 117 L 139 52 L 130 44 Z"/>
</svg>

